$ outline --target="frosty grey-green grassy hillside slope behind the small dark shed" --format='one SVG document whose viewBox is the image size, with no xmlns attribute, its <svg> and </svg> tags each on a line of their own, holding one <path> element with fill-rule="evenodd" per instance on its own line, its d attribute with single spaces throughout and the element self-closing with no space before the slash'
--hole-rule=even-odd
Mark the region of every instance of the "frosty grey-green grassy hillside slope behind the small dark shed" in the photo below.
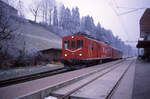
<svg viewBox="0 0 150 99">
<path fill-rule="evenodd" d="M 33 24 L 29 21 L 18 23 L 19 29 L 17 32 L 23 35 L 26 44 L 38 50 L 44 49 L 61 49 L 61 38 L 56 34 L 50 32 L 46 28 Z"/>
</svg>

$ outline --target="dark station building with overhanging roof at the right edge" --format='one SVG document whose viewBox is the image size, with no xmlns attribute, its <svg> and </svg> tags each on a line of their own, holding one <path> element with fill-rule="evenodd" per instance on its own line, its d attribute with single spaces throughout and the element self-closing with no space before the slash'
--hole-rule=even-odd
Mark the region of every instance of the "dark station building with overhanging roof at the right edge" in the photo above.
<svg viewBox="0 0 150 99">
<path fill-rule="evenodd" d="M 140 19 L 140 38 L 137 44 L 139 49 L 144 49 L 142 59 L 150 58 L 150 8 L 147 8 Z"/>
</svg>

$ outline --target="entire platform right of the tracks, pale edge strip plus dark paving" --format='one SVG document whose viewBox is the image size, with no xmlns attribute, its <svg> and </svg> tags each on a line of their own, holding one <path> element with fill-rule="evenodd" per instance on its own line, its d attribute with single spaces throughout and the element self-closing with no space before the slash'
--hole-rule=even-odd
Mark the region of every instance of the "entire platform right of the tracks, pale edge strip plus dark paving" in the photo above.
<svg viewBox="0 0 150 99">
<path fill-rule="evenodd" d="M 136 59 L 111 99 L 150 99 L 150 62 Z"/>
</svg>

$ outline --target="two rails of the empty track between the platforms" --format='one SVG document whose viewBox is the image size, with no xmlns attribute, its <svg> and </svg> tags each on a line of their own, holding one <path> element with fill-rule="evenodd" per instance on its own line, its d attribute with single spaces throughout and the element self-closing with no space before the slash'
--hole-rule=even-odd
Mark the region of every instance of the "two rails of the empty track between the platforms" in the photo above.
<svg viewBox="0 0 150 99">
<path fill-rule="evenodd" d="M 98 78 L 104 76 L 105 74 L 115 70 L 116 68 L 120 67 L 121 64 L 123 63 L 124 61 L 121 61 L 121 62 L 118 62 L 116 64 L 114 64 L 113 66 L 109 66 L 107 68 L 104 68 L 100 71 L 103 71 L 103 70 L 106 70 L 105 72 L 103 73 L 100 73 L 100 74 L 94 74 L 95 76 L 84 82 L 84 83 L 80 83 L 80 86 L 76 87 L 76 88 L 73 88 L 73 89 L 68 89 L 70 91 L 66 92 L 65 94 L 61 94 L 61 95 L 58 95 L 56 94 L 58 92 L 58 90 L 62 90 L 63 88 L 60 88 L 60 89 L 56 89 L 55 91 L 53 91 L 51 93 L 51 96 L 54 96 L 54 97 L 57 97 L 57 99 L 70 99 L 70 96 L 75 93 L 76 91 L 80 90 L 81 88 L 85 87 L 86 85 L 92 83 L 93 81 L 97 80 Z M 106 99 L 111 99 L 111 96 L 113 95 L 113 93 L 115 92 L 115 90 L 117 89 L 118 85 L 120 84 L 120 81 L 122 80 L 122 78 L 124 77 L 124 75 L 126 74 L 126 72 L 128 71 L 128 69 L 130 68 L 131 64 L 133 63 L 133 61 L 128 65 L 128 67 L 125 69 L 125 71 L 123 72 L 122 76 L 120 77 L 120 79 L 117 81 L 117 83 L 115 84 L 115 86 L 113 87 L 113 89 L 110 91 L 110 93 L 107 95 Z M 77 85 L 77 84 L 76 84 Z M 79 84 L 78 84 L 79 85 Z M 65 86 L 64 86 L 65 87 Z M 67 90 L 67 89 L 64 89 L 64 90 Z M 60 92 L 60 91 L 59 91 Z"/>
</svg>

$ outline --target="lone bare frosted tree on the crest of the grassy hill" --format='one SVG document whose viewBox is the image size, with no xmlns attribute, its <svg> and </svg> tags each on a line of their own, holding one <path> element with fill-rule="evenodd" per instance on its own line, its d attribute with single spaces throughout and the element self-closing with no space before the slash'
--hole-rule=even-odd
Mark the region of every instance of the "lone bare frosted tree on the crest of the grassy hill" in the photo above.
<svg viewBox="0 0 150 99">
<path fill-rule="evenodd" d="M 40 11 L 40 7 L 41 7 L 41 2 L 33 1 L 33 3 L 30 5 L 29 10 L 31 11 L 31 13 L 34 16 L 34 21 L 37 21 L 37 16 L 39 14 Z"/>
</svg>

